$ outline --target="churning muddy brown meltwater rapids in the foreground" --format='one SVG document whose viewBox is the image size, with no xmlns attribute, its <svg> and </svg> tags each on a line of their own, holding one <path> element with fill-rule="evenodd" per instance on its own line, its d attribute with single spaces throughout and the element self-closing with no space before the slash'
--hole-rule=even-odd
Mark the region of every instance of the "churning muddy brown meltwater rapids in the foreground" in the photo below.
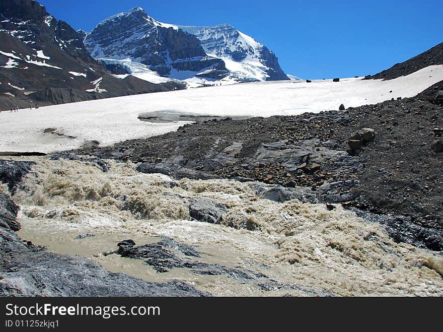
<svg viewBox="0 0 443 332">
<path fill-rule="evenodd" d="M 13 159 L 36 162 L 13 196 L 21 206 L 19 236 L 52 252 L 84 255 L 113 272 L 180 280 L 214 296 L 443 295 L 443 279 L 428 268 L 441 260 L 437 252 L 395 243 L 379 224 L 339 205 L 328 211 L 296 200 L 276 203 L 260 198 L 253 182 L 175 180 L 139 173 L 130 162 L 107 161 L 104 173 L 88 162 Z M 226 213 L 219 224 L 195 221 L 192 200 L 215 201 Z M 95 236 L 76 239 L 84 233 Z M 101 254 L 122 240 L 138 246 L 166 237 L 199 253 L 177 251 L 180 261 L 223 273 L 189 267 L 159 272 L 144 259 Z"/>
</svg>

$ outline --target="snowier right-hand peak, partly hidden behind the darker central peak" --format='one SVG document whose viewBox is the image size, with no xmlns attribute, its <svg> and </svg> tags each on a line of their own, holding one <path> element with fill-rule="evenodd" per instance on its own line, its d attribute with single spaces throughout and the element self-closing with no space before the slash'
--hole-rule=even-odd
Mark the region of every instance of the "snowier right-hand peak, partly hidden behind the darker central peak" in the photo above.
<svg viewBox="0 0 443 332">
<path fill-rule="evenodd" d="M 195 35 L 207 54 L 223 59 L 234 79 L 289 80 L 272 51 L 229 24 L 214 27 L 179 26 L 179 28 Z"/>
</svg>

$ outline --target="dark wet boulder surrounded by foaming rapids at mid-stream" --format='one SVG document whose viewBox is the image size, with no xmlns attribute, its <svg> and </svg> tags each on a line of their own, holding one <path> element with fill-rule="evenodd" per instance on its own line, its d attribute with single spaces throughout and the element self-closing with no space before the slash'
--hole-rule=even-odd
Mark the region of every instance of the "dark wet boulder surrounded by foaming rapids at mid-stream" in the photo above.
<svg viewBox="0 0 443 332">
<path fill-rule="evenodd" d="M 191 198 L 189 215 L 197 221 L 219 224 L 228 213 L 228 209 L 208 198 Z"/>
</svg>

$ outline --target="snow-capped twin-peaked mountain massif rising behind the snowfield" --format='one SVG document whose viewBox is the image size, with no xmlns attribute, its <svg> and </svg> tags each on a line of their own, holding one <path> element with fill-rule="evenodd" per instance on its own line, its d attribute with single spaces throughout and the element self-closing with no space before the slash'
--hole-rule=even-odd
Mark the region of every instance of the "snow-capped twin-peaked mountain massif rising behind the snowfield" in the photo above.
<svg viewBox="0 0 443 332">
<path fill-rule="evenodd" d="M 156 21 L 140 7 L 101 21 L 84 42 L 96 59 L 130 59 L 169 78 L 289 80 L 273 52 L 230 24 L 173 25 Z"/>
</svg>

